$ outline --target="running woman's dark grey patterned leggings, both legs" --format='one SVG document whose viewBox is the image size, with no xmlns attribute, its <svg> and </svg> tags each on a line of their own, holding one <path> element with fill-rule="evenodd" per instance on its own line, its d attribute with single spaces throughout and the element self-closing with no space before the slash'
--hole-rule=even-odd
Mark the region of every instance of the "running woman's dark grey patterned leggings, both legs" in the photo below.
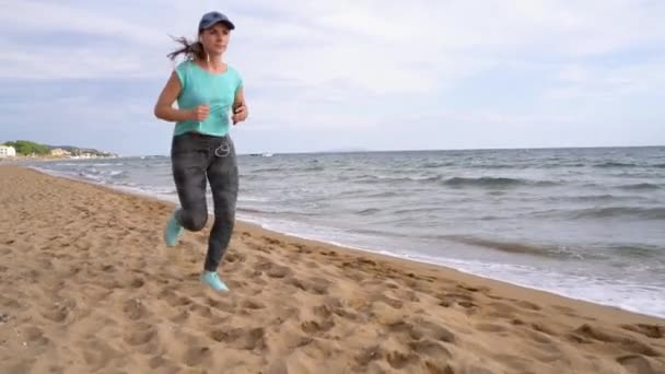
<svg viewBox="0 0 665 374">
<path fill-rule="evenodd" d="M 215 271 L 235 223 L 238 170 L 233 141 L 229 136 L 194 132 L 175 136 L 171 145 L 171 164 L 180 200 L 175 217 L 189 231 L 200 231 L 208 222 L 206 187 L 207 182 L 210 183 L 214 223 L 208 238 L 205 269 Z"/>
</svg>

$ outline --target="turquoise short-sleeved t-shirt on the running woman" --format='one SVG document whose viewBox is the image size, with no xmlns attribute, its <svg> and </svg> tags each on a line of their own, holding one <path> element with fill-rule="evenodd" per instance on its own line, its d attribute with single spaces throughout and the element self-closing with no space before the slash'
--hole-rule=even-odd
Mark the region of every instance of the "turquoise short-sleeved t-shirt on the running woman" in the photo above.
<svg viewBox="0 0 665 374">
<path fill-rule="evenodd" d="M 180 62 L 175 69 L 180 80 L 182 91 L 177 98 L 180 109 L 190 109 L 198 105 L 209 105 L 210 115 L 205 121 L 178 121 L 174 135 L 200 132 L 223 137 L 230 130 L 230 114 L 235 92 L 243 85 L 243 80 L 234 68 L 228 66 L 223 73 L 210 72 L 191 60 Z"/>
</svg>

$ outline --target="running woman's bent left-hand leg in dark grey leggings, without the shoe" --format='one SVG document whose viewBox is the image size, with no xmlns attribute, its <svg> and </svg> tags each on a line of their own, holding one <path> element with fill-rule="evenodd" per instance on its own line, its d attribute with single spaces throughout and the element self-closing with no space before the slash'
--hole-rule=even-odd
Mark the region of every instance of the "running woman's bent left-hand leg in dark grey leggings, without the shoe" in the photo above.
<svg viewBox="0 0 665 374">
<path fill-rule="evenodd" d="M 203 136 L 184 133 L 173 138 L 171 164 L 180 200 L 180 209 L 174 218 L 189 231 L 203 229 L 208 221 L 206 170 L 209 154 L 208 139 Z"/>
</svg>

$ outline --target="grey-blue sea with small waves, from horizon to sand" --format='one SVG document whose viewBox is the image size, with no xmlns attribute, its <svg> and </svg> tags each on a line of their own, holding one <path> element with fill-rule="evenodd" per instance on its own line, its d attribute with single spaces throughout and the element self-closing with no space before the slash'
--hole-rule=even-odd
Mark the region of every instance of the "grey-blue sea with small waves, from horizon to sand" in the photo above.
<svg viewBox="0 0 665 374">
<path fill-rule="evenodd" d="M 664 147 L 241 155 L 238 165 L 238 219 L 665 317 Z M 165 156 L 32 166 L 177 201 Z"/>
</svg>

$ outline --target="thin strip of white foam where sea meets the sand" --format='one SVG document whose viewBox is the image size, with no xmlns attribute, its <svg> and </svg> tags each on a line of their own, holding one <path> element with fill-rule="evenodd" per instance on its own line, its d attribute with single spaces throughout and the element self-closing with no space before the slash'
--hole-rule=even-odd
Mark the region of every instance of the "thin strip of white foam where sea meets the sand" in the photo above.
<svg viewBox="0 0 665 374">
<path fill-rule="evenodd" d="M 73 180 L 73 182 L 78 182 L 78 183 L 83 183 L 83 184 L 90 184 L 93 186 L 98 186 L 105 189 L 108 189 L 110 191 L 115 191 L 115 192 L 120 192 L 120 194 L 128 194 L 131 196 L 138 196 L 141 198 L 148 198 L 148 199 L 154 199 L 156 201 L 161 201 L 161 202 L 166 202 L 166 203 L 177 203 L 177 200 L 174 199 L 170 199 L 166 196 L 160 196 L 159 194 L 154 194 L 154 192 L 149 192 L 149 191 L 144 191 L 144 190 L 140 190 L 140 189 L 133 189 L 133 188 L 129 188 L 129 187 L 121 187 L 121 186 L 113 186 L 113 185 L 106 185 L 106 184 L 102 184 L 102 183 L 95 183 L 94 180 L 86 180 L 83 178 L 78 178 L 75 176 L 70 176 L 70 175 L 66 175 L 66 174 L 60 174 L 60 173 L 56 173 L 56 172 L 51 172 L 51 171 L 47 171 L 47 170 L 39 170 L 36 166 L 22 166 L 19 165 L 19 167 L 25 167 L 25 168 L 30 168 L 33 170 L 37 173 L 42 173 L 44 175 L 48 175 L 50 177 L 57 177 L 57 178 L 65 178 L 68 180 Z M 177 198 L 176 198 L 177 199 Z M 212 218 L 213 214 L 209 213 L 209 217 Z M 320 239 L 320 238 L 316 238 L 316 237 L 310 237 L 305 234 L 298 234 L 298 233 L 290 233 L 290 232 L 282 232 L 279 230 L 273 230 L 273 229 L 268 229 L 266 224 L 261 224 L 260 222 L 255 222 L 255 221 L 250 221 L 250 220 L 243 220 L 243 219 L 236 219 L 237 222 L 241 222 L 242 224 L 248 225 L 248 226 L 254 226 L 256 229 L 259 230 L 264 230 L 266 232 L 269 232 L 271 234 L 279 234 L 282 235 L 284 237 L 291 237 L 291 238 L 295 238 L 295 239 L 304 239 L 304 241 L 308 241 L 308 242 L 313 242 L 313 243 L 318 243 L 318 244 L 323 244 L 323 245 L 330 245 L 334 247 L 340 247 L 342 249 L 346 250 L 354 250 L 354 252 L 359 252 L 361 254 L 372 254 L 372 255 L 377 255 L 381 257 L 385 257 L 385 258 L 392 258 L 392 259 L 397 259 L 397 260 L 406 260 L 406 261 L 410 261 L 410 262 L 415 262 L 418 265 L 428 265 L 428 266 L 433 266 L 436 268 L 444 268 L 444 269 L 450 269 L 453 271 L 457 271 L 459 273 L 464 273 L 464 274 L 468 274 L 471 277 L 478 277 L 488 281 L 495 281 L 495 282 L 500 282 L 506 285 L 511 285 L 511 287 L 517 287 L 517 288 L 522 288 L 522 289 L 526 289 L 529 291 L 537 291 L 537 292 L 544 292 L 544 293 L 548 293 L 555 296 L 559 296 L 559 297 L 564 297 L 564 299 L 570 299 L 573 301 L 579 301 L 579 302 L 584 302 L 584 303 L 591 303 L 591 304 L 595 304 L 595 305 L 599 305 L 599 306 L 606 306 L 606 307 L 610 307 L 610 308 L 617 308 L 619 311 L 625 311 L 628 313 L 634 313 L 634 314 L 639 314 L 645 317 L 652 317 L 652 318 L 657 318 L 657 319 L 663 319 L 665 320 L 665 316 L 662 315 L 657 315 L 657 314 L 650 314 L 650 313 L 645 313 L 645 312 L 641 312 L 638 309 L 633 309 L 633 308 L 628 308 L 628 307 L 621 307 L 618 305 L 612 305 L 612 304 L 605 304 L 605 303 L 600 303 L 597 301 L 593 301 L 593 300 L 588 300 L 588 299 L 581 299 L 581 297 L 574 297 L 570 294 L 565 294 L 564 291 L 553 291 L 551 289 L 546 289 L 546 288 L 537 288 L 537 287 L 533 287 L 533 285 L 528 285 L 528 284 L 524 284 L 524 283 L 518 283 L 515 281 L 509 281 L 509 280 L 504 280 L 504 279 L 499 279 L 499 278 L 492 278 L 489 276 L 483 276 L 481 273 L 478 272 L 474 272 L 474 271 L 467 271 L 467 270 L 463 270 L 463 269 L 458 269 L 455 268 L 454 266 L 451 265 L 446 265 L 443 264 L 443 261 L 436 261 L 436 260 L 427 260 L 423 258 L 417 258 L 417 257 L 406 257 L 406 256 L 401 256 L 401 255 L 397 255 L 397 254 L 392 254 L 388 250 L 382 250 L 380 248 L 368 248 L 368 247 L 358 247 L 358 246 L 353 246 L 353 245 L 348 245 L 348 244 L 343 244 L 343 243 L 332 243 L 332 242 L 326 242 L 325 239 Z"/>
</svg>

